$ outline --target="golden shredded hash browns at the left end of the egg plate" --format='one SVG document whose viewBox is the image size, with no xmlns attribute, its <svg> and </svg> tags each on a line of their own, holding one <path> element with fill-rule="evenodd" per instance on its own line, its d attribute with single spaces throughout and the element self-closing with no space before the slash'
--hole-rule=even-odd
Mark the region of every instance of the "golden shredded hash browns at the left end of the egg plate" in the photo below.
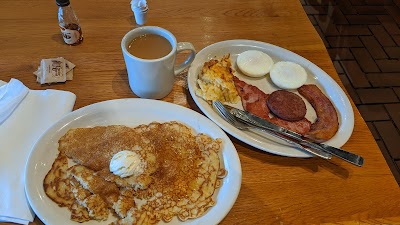
<svg viewBox="0 0 400 225">
<path fill-rule="evenodd" d="M 211 59 L 204 63 L 197 79 L 196 95 L 207 101 L 219 100 L 237 103 L 240 98 L 233 84 L 233 70 L 229 54 L 221 60 Z"/>
</svg>

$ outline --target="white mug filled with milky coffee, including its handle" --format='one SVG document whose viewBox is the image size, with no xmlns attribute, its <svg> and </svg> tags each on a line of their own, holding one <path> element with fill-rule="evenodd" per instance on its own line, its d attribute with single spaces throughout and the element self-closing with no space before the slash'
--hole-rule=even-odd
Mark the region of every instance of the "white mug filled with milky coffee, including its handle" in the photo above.
<svg viewBox="0 0 400 225">
<path fill-rule="evenodd" d="M 137 27 L 122 38 L 122 54 L 128 72 L 129 86 L 141 98 L 161 99 L 174 86 L 175 76 L 188 68 L 196 56 L 190 42 L 177 42 L 168 30 L 156 26 Z M 190 51 L 176 65 L 176 56 Z"/>
</svg>

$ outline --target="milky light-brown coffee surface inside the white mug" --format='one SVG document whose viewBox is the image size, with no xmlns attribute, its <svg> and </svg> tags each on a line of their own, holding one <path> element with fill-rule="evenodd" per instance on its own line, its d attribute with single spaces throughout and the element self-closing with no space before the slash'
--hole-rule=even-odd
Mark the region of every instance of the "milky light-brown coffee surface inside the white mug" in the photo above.
<svg viewBox="0 0 400 225">
<path fill-rule="evenodd" d="M 128 52 L 141 59 L 159 59 L 172 50 L 167 39 L 157 34 L 144 34 L 134 38 L 128 45 Z"/>
</svg>

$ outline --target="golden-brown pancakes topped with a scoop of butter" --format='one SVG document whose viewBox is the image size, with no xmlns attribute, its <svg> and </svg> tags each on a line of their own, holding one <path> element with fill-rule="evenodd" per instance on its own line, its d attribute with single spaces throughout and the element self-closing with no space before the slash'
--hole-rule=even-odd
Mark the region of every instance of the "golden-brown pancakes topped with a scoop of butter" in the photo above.
<svg viewBox="0 0 400 225">
<path fill-rule="evenodd" d="M 113 224 L 157 224 L 175 216 L 185 221 L 215 204 L 226 175 L 221 146 L 220 139 L 175 121 L 70 129 L 59 140 L 57 163 L 43 185 L 64 193 L 52 185 L 68 179 L 69 195 L 60 194 L 68 204 L 59 205 L 68 206 L 77 222 L 107 220 L 110 214 L 117 216 Z M 68 166 L 67 157 L 76 164 Z M 62 173 L 55 173 L 59 168 Z"/>
</svg>

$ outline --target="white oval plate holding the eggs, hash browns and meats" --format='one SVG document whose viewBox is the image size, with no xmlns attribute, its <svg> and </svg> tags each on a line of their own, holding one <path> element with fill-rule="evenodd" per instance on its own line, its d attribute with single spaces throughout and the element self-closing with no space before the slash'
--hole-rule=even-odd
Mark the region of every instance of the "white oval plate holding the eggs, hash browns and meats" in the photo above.
<svg viewBox="0 0 400 225">
<path fill-rule="evenodd" d="M 233 127 L 231 124 L 226 122 L 224 119 L 213 110 L 211 105 L 207 101 L 203 100 L 196 95 L 197 89 L 197 77 L 203 67 L 204 62 L 210 59 L 217 58 L 221 59 L 223 56 L 230 54 L 230 59 L 234 69 L 234 75 L 240 80 L 245 81 L 248 84 L 254 85 L 266 93 L 271 93 L 278 90 L 276 86 L 273 85 L 269 75 L 262 78 L 252 78 L 243 75 L 236 65 L 236 59 L 238 55 L 247 50 L 258 50 L 267 53 L 273 61 L 291 61 L 303 66 L 308 74 L 306 84 L 316 84 L 322 92 L 331 100 L 336 108 L 338 119 L 339 119 L 339 129 L 335 136 L 325 143 L 334 147 L 341 147 L 350 138 L 353 127 L 354 127 L 354 114 L 351 107 L 350 101 L 346 94 L 340 88 L 340 86 L 321 68 L 310 62 L 309 60 L 293 53 L 284 48 L 252 40 L 228 40 L 212 44 L 199 53 L 197 53 L 196 58 L 191 64 L 188 72 L 188 86 L 191 96 L 193 97 L 195 103 L 198 105 L 200 110 L 212 121 L 214 121 L 218 126 L 225 130 L 230 135 L 235 138 L 253 146 L 263 151 L 282 155 L 289 157 L 299 157 L 306 158 L 311 157 L 307 152 L 298 150 L 278 142 L 272 138 L 266 138 L 260 134 L 251 131 L 241 131 Z M 316 120 L 316 114 L 312 106 L 305 101 L 307 106 L 306 118 L 311 122 Z M 241 102 L 236 104 L 230 104 L 231 106 L 243 109 Z"/>
</svg>

